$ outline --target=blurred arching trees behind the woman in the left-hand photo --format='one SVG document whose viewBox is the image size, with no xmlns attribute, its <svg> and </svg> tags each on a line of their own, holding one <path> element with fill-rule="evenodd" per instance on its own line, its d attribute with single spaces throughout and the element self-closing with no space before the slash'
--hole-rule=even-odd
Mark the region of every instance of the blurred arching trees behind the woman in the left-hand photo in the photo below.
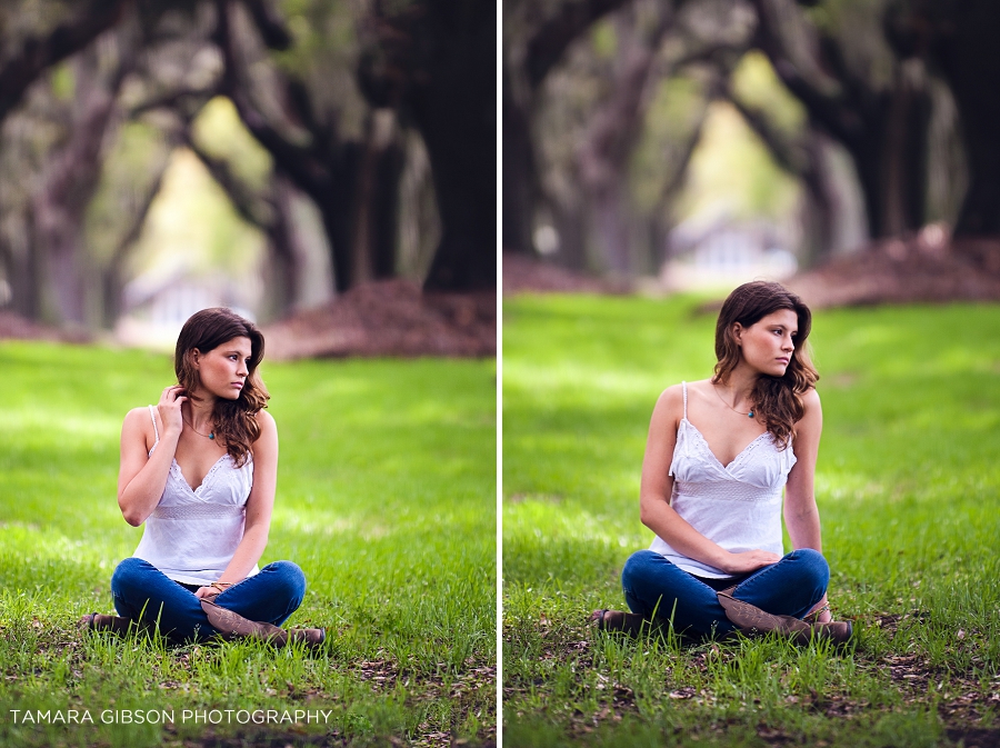
<svg viewBox="0 0 1000 748">
<path fill-rule="evenodd" d="M 494 288 L 494 40 L 462 0 L 3 3 L 0 308 Z"/>
</svg>

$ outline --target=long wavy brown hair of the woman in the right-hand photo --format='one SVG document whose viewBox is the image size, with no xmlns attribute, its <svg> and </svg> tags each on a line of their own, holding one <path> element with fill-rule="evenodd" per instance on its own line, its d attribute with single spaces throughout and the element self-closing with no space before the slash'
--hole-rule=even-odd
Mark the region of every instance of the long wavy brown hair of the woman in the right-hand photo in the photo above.
<svg viewBox="0 0 1000 748">
<path fill-rule="evenodd" d="M 796 423 L 806 415 L 802 396 L 816 387 L 819 373 L 809 359 L 806 340 L 812 328 L 812 312 L 798 296 L 781 283 L 753 281 L 743 283 L 722 303 L 716 322 L 716 373 L 712 383 L 724 385 L 729 375 L 742 358 L 742 350 L 732 328 L 739 322 L 744 328 L 781 309 L 796 312 L 799 332 L 794 338 L 794 352 L 782 377 L 761 375 L 750 395 L 753 411 L 764 421 L 768 431 L 784 449 L 796 436 Z"/>
</svg>

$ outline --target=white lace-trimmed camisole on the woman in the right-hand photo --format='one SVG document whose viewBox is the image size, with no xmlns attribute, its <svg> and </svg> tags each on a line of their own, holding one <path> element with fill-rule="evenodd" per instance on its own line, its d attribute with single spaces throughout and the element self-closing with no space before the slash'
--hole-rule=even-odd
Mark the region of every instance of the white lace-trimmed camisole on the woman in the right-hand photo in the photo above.
<svg viewBox="0 0 1000 748">
<path fill-rule="evenodd" d="M 773 435 L 764 431 L 723 466 L 701 431 L 688 420 L 688 382 L 682 382 L 682 387 L 684 417 L 677 429 L 670 463 L 674 478 L 670 506 L 691 527 L 728 551 L 760 548 L 781 556 L 781 489 L 796 463 L 791 445 L 778 449 Z M 660 537 L 649 548 L 699 577 L 732 576 L 683 556 Z"/>
</svg>

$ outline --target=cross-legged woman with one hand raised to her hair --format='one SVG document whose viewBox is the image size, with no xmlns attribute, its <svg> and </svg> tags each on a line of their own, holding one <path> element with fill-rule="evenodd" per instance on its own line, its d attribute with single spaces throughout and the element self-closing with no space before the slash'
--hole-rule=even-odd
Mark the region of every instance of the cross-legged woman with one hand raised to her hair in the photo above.
<svg viewBox="0 0 1000 748">
<path fill-rule="evenodd" d="M 278 473 L 278 429 L 257 370 L 263 346 L 260 330 L 228 309 L 196 313 L 178 337 L 178 385 L 126 416 L 118 503 L 129 525 L 146 528 L 111 578 L 120 617 L 91 614 L 86 628 L 156 628 L 174 644 L 323 641 L 322 629 L 279 628 L 302 604 L 302 570 L 257 566 Z"/>
</svg>

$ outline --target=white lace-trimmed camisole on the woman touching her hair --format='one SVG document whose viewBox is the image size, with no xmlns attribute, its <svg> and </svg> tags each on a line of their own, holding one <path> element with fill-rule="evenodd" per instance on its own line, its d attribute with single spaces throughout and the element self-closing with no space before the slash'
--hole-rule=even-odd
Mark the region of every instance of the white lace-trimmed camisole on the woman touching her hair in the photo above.
<svg viewBox="0 0 1000 748">
<path fill-rule="evenodd" d="M 149 406 L 157 441 L 156 411 Z M 149 561 L 174 581 L 211 585 L 232 560 L 243 538 L 247 499 L 253 487 L 253 460 L 241 468 L 223 455 L 191 489 L 177 460 L 170 463 L 167 486 L 153 513 L 146 520 L 142 540 L 133 556 Z M 248 575 L 258 572 L 257 566 Z"/>
</svg>

